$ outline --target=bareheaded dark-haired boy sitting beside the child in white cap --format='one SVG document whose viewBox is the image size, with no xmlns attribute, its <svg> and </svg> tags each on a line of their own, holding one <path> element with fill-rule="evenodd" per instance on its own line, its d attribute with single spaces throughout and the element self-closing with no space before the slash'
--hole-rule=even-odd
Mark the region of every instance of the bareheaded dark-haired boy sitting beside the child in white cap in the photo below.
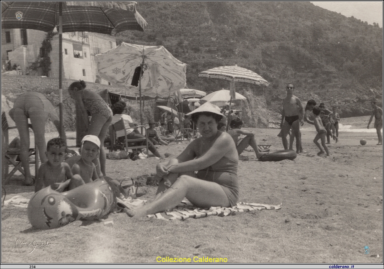
<svg viewBox="0 0 384 269">
<path fill-rule="evenodd" d="M 62 138 L 53 138 L 47 143 L 45 156 L 48 159 L 41 164 L 36 179 L 35 192 L 51 185 L 52 189 L 63 192 L 69 186 L 73 174 L 67 163 L 64 163 L 67 145 Z"/>
</svg>

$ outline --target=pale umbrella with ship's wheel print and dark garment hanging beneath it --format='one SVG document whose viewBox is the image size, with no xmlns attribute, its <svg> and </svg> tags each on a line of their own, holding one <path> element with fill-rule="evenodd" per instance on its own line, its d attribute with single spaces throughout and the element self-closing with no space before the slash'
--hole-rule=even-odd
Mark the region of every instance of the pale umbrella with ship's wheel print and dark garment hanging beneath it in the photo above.
<svg viewBox="0 0 384 269">
<path fill-rule="evenodd" d="M 99 75 L 114 86 L 150 97 L 167 97 L 185 87 L 186 64 L 164 46 L 121 43 L 95 56 Z M 142 66 L 142 70 L 138 69 Z M 141 88 L 134 77 L 142 72 Z M 137 80 L 139 76 L 137 75 Z M 133 85 L 132 85 L 133 84 Z"/>
</svg>

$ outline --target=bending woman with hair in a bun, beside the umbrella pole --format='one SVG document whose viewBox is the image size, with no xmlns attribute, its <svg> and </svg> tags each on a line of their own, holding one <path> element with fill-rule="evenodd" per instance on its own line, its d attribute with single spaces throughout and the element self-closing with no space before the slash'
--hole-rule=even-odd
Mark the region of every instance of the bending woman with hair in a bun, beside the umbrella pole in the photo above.
<svg viewBox="0 0 384 269">
<path fill-rule="evenodd" d="M 76 102 L 76 114 L 83 118 L 83 122 L 88 124 L 86 134 L 92 134 L 100 139 L 100 156 L 95 159 L 96 167 L 100 163 L 101 173 L 105 173 L 106 154 L 104 150 L 104 140 L 107 136 L 109 124 L 112 121 L 112 110 L 100 95 L 91 90 L 85 90 L 86 84 L 83 80 L 73 82 L 68 92 Z M 89 121 L 88 116 L 91 116 Z"/>
</svg>

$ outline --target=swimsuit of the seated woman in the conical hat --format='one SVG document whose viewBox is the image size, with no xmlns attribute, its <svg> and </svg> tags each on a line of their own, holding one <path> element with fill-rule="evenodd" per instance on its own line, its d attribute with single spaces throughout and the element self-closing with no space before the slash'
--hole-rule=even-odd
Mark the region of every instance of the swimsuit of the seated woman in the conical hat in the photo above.
<svg viewBox="0 0 384 269">
<path fill-rule="evenodd" d="M 239 193 L 237 166 L 237 161 L 223 157 L 217 163 L 197 172 L 197 178 L 219 184 L 227 194 L 230 205 L 235 206 Z"/>
</svg>

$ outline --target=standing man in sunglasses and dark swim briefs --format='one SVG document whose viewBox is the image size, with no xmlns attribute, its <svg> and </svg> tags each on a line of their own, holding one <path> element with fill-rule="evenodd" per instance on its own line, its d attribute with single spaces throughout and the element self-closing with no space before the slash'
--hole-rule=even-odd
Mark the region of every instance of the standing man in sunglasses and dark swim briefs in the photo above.
<svg viewBox="0 0 384 269">
<path fill-rule="evenodd" d="M 296 138 L 296 153 L 300 153 L 301 149 L 301 137 L 300 137 L 300 125 L 304 124 L 303 106 L 300 99 L 293 95 L 295 86 L 293 84 L 287 84 L 286 91 L 287 96 L 283 100 L 283 112 L 281 115 L 280 123 L 280 136 L 283 141 L 284 149 L 288 149 L 287 135 L 292 129 L 292 135 Z"/>
</svg>

